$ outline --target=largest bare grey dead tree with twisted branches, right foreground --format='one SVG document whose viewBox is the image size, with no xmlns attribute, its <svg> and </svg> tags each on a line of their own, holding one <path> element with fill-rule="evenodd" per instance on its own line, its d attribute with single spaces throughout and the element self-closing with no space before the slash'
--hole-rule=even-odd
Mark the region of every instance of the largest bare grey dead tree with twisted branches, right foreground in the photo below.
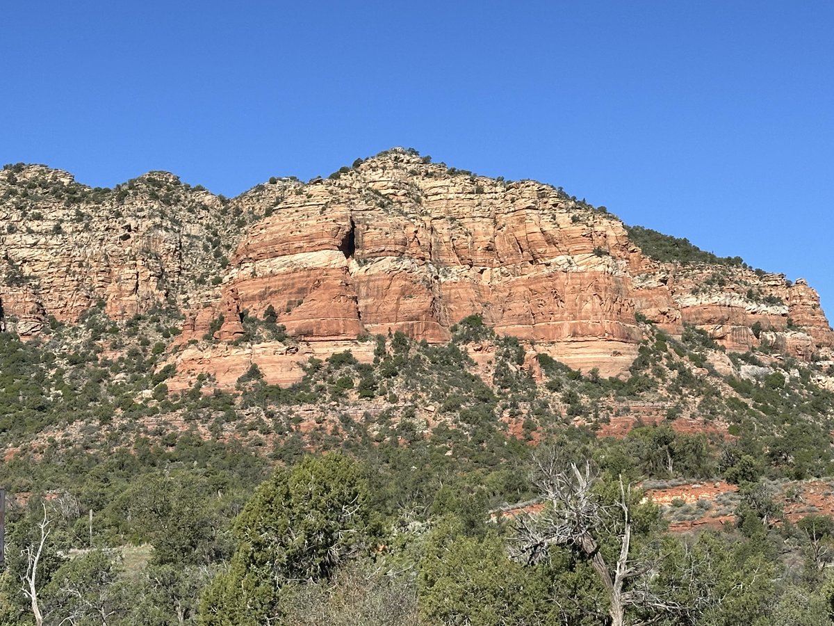
<svg viewBox="0 0 834 626">
<path fill-rule="evenodd" d="M 625 611 L 641 607 L 651 611 L 680 611 L 676 603 L 651 593 L 648 585 L 626 588 L 633 579 L 651 572 L 651 567 L 638 563 L 631 550 L 631 487 L 620 477 L 620 497 L 614 505 L 605 505 L 594 492 L 599 481 L 590 462 L 565 462 L 555 450 L 540 453 L 535 458 L 534 483 L 540 496 L 550 506 L 538 516 L 521 516 L 517 522 L 518 537 L 515 558 L 532 564 L 548 558 L 551 545 L 565 546 L 584 555 L 590 561 L 605 593 L 610 600 L 610 623 L 623 626 Z M 620 550 L 615 563 L 608 563 L 600 551 L 597 537 L 600 531 L 614 525 L 619 518 L 615 536 Z M 652 623 L 650 618 L 642 623 Z"/>
</svg>

